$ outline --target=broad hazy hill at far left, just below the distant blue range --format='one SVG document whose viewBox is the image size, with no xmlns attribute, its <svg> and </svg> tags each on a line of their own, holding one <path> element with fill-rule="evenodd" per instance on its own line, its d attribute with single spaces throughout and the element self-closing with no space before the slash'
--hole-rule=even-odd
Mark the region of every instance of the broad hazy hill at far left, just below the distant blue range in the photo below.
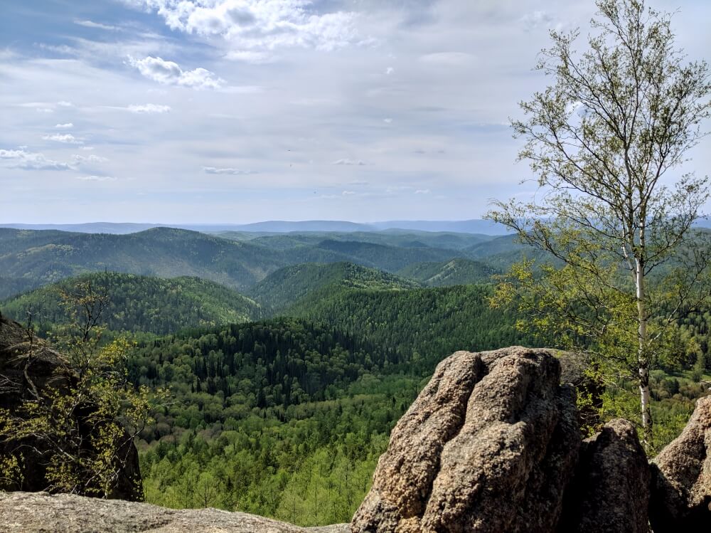
<svg viewBox="0 0 711 533">
<path fill-rule="evenodd" d="M 284 265 L 267 248 L 173 228 L 128 235 L 23 231 L 23 239 L 14 241 L 16 232 L 0 228 L 0 243 L 14 242 L 0 255 L 0 272 L 38 284 L 112 270 L 164 278 L 199 276 L 240 288 Z"/>
</svg>

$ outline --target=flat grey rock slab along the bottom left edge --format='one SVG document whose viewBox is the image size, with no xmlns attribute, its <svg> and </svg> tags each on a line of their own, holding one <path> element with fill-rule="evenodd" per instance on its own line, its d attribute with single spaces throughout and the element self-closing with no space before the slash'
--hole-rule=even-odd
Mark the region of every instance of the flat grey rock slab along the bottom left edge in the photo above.
<svg viewBox="0 0 711 533">
<path fill-rule="evenodd" d="M 296 527 L 243 512 L 173 510 L 46 492 L 0 492 L 4 533 L 346 533 L 348 524 Z"/>
</svg>

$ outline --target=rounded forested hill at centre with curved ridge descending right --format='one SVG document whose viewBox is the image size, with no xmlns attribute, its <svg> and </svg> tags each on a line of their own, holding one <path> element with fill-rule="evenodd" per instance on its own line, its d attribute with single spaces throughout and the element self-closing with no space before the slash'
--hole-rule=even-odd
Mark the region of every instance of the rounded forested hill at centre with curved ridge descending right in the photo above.
<svg viewBox="0 0 711 533">
<path fill-rule="evenodd" d="M 265 312 L 278 315 L 293 306 L 315 305 L 322 298 L 347 288 L 406 290 L 419 287 L 412 280 L 353 263 L 304 263 L 277 270 L 248 294 Z"/>
</svg>

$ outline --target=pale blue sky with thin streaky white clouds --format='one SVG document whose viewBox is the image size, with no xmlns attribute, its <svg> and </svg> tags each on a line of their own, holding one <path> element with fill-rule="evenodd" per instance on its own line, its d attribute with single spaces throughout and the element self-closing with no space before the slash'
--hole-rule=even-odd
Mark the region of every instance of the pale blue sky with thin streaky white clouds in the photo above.
<svg viewBox="0 0 711 533">
<path fill-rule="evenodd" d="M 676 11 L 711 59 L 711 2 Z M 481 218 L 592 0 L 4 0 L 0 223 Z M 582 43 L 581 43 L 581 46 Z M 711 174 L 711 142 L 682 170 Z"/>
</svg>

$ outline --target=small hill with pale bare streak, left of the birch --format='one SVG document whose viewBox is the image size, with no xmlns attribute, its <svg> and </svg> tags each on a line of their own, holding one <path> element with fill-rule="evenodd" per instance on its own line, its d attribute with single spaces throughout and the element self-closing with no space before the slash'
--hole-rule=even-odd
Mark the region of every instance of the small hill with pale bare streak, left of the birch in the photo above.
<svg viewBox="0 0 711 533">
<path fill-rule="evenodd" d="M 427 287 L 486 283 L 496 273 L 484 263 L 462 258 L 444 263 L 415 263 L 397 271 L 403 278 L 417 280 Z"/>
</svg>

